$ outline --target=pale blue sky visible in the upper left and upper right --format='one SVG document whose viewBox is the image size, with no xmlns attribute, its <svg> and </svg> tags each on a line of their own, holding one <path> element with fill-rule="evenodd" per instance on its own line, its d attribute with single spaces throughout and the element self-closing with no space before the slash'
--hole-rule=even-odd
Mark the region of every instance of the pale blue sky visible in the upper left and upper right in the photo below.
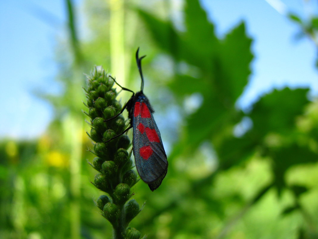
<svg viewBox="0 0 318 239">
<path fill-rule="evenodd" d="M 82 2 L 76 1 L 78 7 Z M 313 11 L 302 0 L 282 2 L 288 10 L 303 16 Z M 254 39 L 253 74 L 238 102 L 240 107 L 247 108 L 260 94 L 285 85 L 310 87 L 312 94 L 317 95 L 314 44 L 306 38 L 295 40 L 297 26 L 268 2 L 202 0 L 202 5 L 220 37 L 244 20 Z M 0 120 L 1 138 L 37 137 L 52 119 L 52 107 L 32 91 L 60 90 L 54 82 L 54 59 L 57 40 L 66 38 L 65 15 L 61 0 L 0 1 L 0 101 L 4 112 Z"/>
</svg>

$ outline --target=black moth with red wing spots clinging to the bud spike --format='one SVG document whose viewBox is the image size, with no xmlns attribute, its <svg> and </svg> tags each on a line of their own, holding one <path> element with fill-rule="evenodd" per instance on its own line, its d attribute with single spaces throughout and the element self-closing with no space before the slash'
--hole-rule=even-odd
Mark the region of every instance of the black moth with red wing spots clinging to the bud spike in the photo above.
<svg viewBox="0 0 318 239">
<path fill-rule="evenodd" d="M 152 116 L 154 110 L 152 109 L 148 98 L 143 93 L 144 80 L 142 76 L 141 60 L 145 57 L 145 55 L 139 58 L 138 52 L 139 48 L 136 52 L 136 62 L 141 77 L 141 90 L 135 93 L 127 88 L 121 87 L 121 85 L 118 84 L 112 77 L 114 82 L 121 87 L 122 90 L 130 91 L 133 95 L 124 105 L 121 112 L 108 120 L 116 118 L 125 109 L 127 109 L 128 117 L 130 119 L 130 127 L 124 130 L 121 134 L 124 134 L 130 128 L 133 128 L 133 152 L 136 168 L 141 179 L 148 184 L 151 191 L 154 191 L 160 186 L 163 178 L 167 174 L 168 161 L 162 145 L 159 129 L 154 117 Z M 112 139 L 108 141 L 111 140 Z"/>
</svg>

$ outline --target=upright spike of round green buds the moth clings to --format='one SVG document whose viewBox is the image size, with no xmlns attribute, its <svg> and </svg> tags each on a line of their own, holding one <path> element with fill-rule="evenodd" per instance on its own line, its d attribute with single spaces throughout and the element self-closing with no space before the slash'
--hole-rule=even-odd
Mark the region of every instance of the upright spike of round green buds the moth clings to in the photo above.
<svg viewBox="0 0 318 239">
<path fill-rule="evenodd" d="M 130 154 L 127 152 L 131 143 L 126 134 L 114 138 L 125 130 L 128 121 L 122 115 L 109 120 L 121 111 L 122 106 L 116 100 L 114 80 L 105 70 L 95 67 L 87 80 L 84 90 L 89 111 L 85 113 L 91 125 L 87 134 L 95 141 L 92 152 L 96 155 L 91 165 L 99 172 L 93 185 L 108 194 L 100 196 L 96 205 L 112 224 L 115 239 L 139 239 L 140 232 L 128 228 L 129 222 L 141 211 L 136 200 L 130 199 L 133 195 L 131 187 L 138 181 L 132 170 L 131 151 Z"/>
</svg>

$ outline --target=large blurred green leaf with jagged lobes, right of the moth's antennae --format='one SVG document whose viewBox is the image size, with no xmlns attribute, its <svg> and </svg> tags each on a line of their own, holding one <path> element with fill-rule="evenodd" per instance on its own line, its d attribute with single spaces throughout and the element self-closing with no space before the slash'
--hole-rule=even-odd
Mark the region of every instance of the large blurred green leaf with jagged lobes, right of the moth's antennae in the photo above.
<svg viewBox="0 0 318 239">
<path fill-rule="evenodd" d="M 171 23 L 164 22 L 144 11 L 140 15 L 154 40 L 176 61 L 185 61 L 197 68 L 197 76 L 178 72 L 170 87 L 177 96 L 193 92 L 203 96 L 203 104 L 187 120 L 186 142 L 196 148 L 200 142 L 212 139 L 240 118 L 234 107 L 250 74 L 252 40 L 245 34 L 244 23 L 219 40 L 214 26 L 208 21 L 199 1 L 185 4 L 185 33 L 178 33 Z M 178 69 L 176 69 L 178 71 Z"/>
</svg>

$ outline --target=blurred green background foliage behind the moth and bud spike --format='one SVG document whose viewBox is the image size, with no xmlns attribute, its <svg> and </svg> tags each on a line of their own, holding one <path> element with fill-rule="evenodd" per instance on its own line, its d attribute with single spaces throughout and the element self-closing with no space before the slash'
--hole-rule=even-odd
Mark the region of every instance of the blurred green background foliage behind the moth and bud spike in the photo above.
<svg viewBox="0 0 318 239">
<path fill-rule="evenodd" d="M 132 189 L 133 198 L 146 204 L 130 226 L 158 239 L 318 238 L 318 102 L 308 100 L 308 89 L 286 87 L 260 97 L 248 112 L 238 109 L 253 59 L 244 22 L 219 39 L 199 2 L 186 0 L 179 31 L 164 20 L 169 11 L 160 11 L 166 8 L 161 4 L 150 4 L 160 17 L 141 4 L 122 5 L 125 86 L 139 89 L 132 61 L 140 46 L 148 55 L 145 93 L 158 106 L 155 117 L 166 122 L 161 131 L 178 133 L 168 139 L 162 185 L 153 193 L 142 182 Z M 93 37 L 79 43 L 69 27 L 76 61 L 61 68 L 65 94 L 50 98 L 57 118 L 37 141 L 0 145 L 1 238 L 112 236 L 92 200 L 101 192 L 89 184 L 95 172 L 86 163 L 92 158 L 88 127 L 76 125 L 83 121 L 79 72 L 111 62 L 111 33 L 105 29 L 112 10 L 96 0 L 87 0 L 86 8 Z M 314 39 L 316 18 L 311 25 L 290 18 Z M 193 96 L 202 103 L 189 109 L 184 102 Z M 178 113 L 175 126 L 171 112 Z"/>
</svg>

